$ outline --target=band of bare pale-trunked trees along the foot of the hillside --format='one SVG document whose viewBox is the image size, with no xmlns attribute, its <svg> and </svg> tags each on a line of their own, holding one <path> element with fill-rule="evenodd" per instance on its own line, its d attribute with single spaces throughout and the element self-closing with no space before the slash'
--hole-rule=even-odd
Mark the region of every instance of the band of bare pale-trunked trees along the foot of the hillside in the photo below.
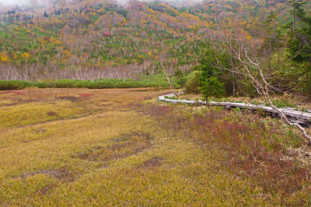
<svg viewBox="0 0 311 207">
<path fill-rule="evenodd" d="M 120 66 L 67 66 L 60 69 L 55 64 L 0 64 L 0 80 L 98 80 L 98 79 L 126 79 L 135 78 L 146 72 L 156 73 L 155 65 L 150 61 L 142 64 L 128 64 Z"/>
</svg>

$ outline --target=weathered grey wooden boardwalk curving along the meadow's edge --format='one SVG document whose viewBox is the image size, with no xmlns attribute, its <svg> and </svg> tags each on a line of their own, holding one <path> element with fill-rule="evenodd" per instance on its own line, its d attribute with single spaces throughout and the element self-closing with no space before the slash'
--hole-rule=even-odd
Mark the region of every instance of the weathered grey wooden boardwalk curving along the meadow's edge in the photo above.
<svg viewBox="0 0 311 207">
<path fill-rule="evenodd" d="M 165 96 L 168 97 L 173 97 L 175 94 L 168 94 L 164 96 L 159 96 L 158 100 L 159 101 L 165 101 L 165 102 L 170 102 L 170 103 L 187 103 L 187 104 L 197 104 L 197 105 L 206 105 L 205 101 L 193 101 L 193 100 L 183 100 L 183 99 L 169 99 L 165 98 Z M 210 101 L 209 105 L 218 105 L 218 106 L 224 106 L 225 108 L 241 108 L 241 109 L 249 109 L 253 112 L 258 112 L 259 110 L 264 111 L 265 113 L 272 115 L 272 116 L 278 116 L 277 112 L 272 108 L 268 106 L 263 106 L 263 105 L 254 105 L 254 104 L 245 104 L 245 103 L 232 103 L 232 102 L 215 102 L 215 101 Z M 296 111 L 294 108 L 278 108 L 280 111 L 286 115 L 291 122 L 293 123 L 311 123 L 311 111 L 308 110 L 308 112 L 303 112 L 303 111 Z"/>
</svg>

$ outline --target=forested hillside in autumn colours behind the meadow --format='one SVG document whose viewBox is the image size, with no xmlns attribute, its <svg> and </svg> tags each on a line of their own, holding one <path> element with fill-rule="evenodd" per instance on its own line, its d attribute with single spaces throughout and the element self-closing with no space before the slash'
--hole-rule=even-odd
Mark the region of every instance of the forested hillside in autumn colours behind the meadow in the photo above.
<svg viewBox="0 0 311 207">
<path fill-rule="evenodd" d="M 0 79 L 124 79 L 156 74 L 163 66 L 187 74 L 206 42 L 220 38 L 216 16 L 238 19 L 247 38 L 257 41 L 267 35 L 264 21 L 271 11 L 279 27 L 291 20 L 290 9 L 284 0 L 53 0 L 2 6 Z"/>
</svg>

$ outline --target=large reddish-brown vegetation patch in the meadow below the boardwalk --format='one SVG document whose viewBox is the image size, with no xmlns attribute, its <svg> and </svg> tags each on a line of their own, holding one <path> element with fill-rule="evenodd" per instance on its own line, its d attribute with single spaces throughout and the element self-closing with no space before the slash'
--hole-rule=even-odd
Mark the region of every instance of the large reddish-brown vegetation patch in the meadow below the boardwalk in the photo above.
<svg viewBox="0 0 311 207">
<path fill-rule="evenodd" d="M 237 176 L 251 177 L 266 192 L 278 192 L 283 198 L 304 188 L 311 168 L 298 159 L 285 159 L 286 146 L 302 141 L 285 134 L 281 125 L 263 122 L 259 115 L 234 114 L 212 110 L 187 112 L 171 105 L 136 105 L 147 115 L 153 115 L 163 130 L 181 139 L 190 139 L 203 150 L 217 148 L 220 163 Z M 295 155 L 292 155 L 295 156 Z M 147 161 L 152 165 L 156 160 Z M 310 187 L 311 190 L 311 187 Z"/>
</svg>

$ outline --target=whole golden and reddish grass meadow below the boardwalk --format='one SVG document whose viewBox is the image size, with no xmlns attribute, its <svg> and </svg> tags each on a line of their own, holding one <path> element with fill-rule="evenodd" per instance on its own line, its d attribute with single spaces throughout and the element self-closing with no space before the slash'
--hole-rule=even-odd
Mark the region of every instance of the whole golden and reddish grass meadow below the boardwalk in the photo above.
<svg viewBox="0 0 311 207">
<path fill-rule="evenodd" d="M 310 206 L 297 131 L 165 93 L 0 92 L 0 206 Z"/>
</svg>

